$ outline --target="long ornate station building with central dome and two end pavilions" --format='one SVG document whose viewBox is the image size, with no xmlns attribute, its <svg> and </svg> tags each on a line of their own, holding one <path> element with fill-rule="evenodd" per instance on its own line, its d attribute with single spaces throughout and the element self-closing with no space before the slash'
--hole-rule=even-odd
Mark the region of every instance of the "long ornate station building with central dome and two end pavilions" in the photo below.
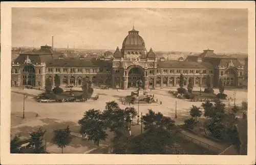
<svg viewBox="0 0 256 165">
<path fill-rule="evenodd" d="M 93 85 L 127 89 L 136 87 L 136 81 L 141 79 L 145 89 L 172 87 L 179 86 L 179 77 L 183 74 L 185 86 L 189 82 L 205 86 L 209 75 L 214 87 L 218 87 L 220 79 L 226 87 L 238 87 L 242 86 L 244 67 L 237 58 L 216 55 L 209 49 L 177 61 L 159 58 L 152 48 L 146 50 L 139 31 L 133 28 L 124 38 L 121 49 L 117 47 L 114 53 L 108 51 L 99 57 L 71 59 L 47 45 L 19 54 L 12 61 L 11 86 L 44 87 L 48 77 L 54 85 L 56 74 L 61 86 L 81 86 L 86 79 Z"/>
</svg>

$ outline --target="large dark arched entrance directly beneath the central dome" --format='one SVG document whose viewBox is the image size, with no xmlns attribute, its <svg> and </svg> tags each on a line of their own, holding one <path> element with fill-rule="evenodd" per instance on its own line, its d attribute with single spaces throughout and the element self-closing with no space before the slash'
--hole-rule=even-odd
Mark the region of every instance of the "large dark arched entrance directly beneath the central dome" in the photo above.
<svg viewBox="0 0 256 165">
<path fill-rule="evenodd" d="M 141 67 L 134 67 L 128 72 L 128 88 L 137 88 L 138 80 L 142 81 L 142 88 L 144 88 L 144 71 Z"/>
</svg>

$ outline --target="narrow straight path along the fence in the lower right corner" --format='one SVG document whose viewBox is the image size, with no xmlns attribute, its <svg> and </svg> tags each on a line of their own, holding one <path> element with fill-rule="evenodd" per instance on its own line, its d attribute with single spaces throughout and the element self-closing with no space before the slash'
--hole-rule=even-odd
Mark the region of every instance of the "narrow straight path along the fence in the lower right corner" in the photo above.
<svg viewBox="0 0 256 165">
<path fill-rule="evenodd" d="M 212 146 L 212 147 L 218 148 L 218 149 L 221 150 L 221 151 L 224 151 L 226 148 L 228 148 L 228 146 L 226 146 L 226 145 L 223 145 L 223 144 L 221 144 L 221 143 L 219 143 L 219 142 L 216 142 L 216 141 L 214 141 L 214 140 L 207 139 L 207 138 L 205 138 L 205 137 L 200 137 L 200 136 L 195 135 L 195 134 L 193 134 L 193 133 L 190 133 L 190 132 L 188 132 L 188 131 L 186 131 L 186 130 L 182 130 L 180 133 L 183 134 L 183 135 L 189 136 L 189 137 L 191 137 L 191 138 L 194 138 L 194 139 L 196 139 L 196 140 L 199 140 L 199 141 L 201 141 L 201 142 L 204 142 L 204 143 L 206 143 L 207 145 L 210 145 L 210 146 Z"/>
</svg>

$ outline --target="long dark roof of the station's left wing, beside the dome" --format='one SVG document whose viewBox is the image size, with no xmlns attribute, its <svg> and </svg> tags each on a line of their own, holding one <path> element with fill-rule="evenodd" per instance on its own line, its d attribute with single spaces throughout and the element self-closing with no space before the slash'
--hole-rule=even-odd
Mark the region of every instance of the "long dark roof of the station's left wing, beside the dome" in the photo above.
<svg viewBox="0 0 256 165">
<path fill-rule="evenodd" d="M 53 59 L 48 61 L 47 67 L 112 67 L 111 61 L 92 58 L 91 60 L 81 59 Z"/>
</svg>

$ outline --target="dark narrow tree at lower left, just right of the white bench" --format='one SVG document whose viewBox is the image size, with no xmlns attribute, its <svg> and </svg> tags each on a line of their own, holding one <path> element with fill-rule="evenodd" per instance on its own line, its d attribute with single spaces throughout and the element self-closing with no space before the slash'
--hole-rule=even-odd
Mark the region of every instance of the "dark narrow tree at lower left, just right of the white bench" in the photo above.
<svg viewBox="0 0 256 165">
<path fill-rule="evenodd" d="M 39 128 L 36 132 L 30 133 L 30 138 L 32 140 L 32 143 L 34 145 L 34 151 L 33 153 L 39 154 L 39 153 L 45 153 L 45 147 L 43 145 L 43 140 L 45 136 L 46 130 L 42 131 L 41 128 Z"/>
</svg>

